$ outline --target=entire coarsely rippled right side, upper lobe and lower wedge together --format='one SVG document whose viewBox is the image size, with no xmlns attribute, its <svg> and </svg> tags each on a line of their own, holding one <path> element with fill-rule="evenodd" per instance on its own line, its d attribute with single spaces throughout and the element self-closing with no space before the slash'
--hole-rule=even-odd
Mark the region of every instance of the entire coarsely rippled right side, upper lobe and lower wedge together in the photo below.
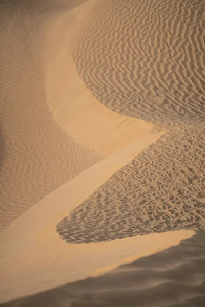
<svg viewBox="0 0 205 307">
<path fill-rule="evenodd" d="M 97 99 L 172 128 L 58 224 L 67 242 L 204 231 L 204 12 L 202 1 L 104 1 L 80 28 L 72 54 Z"/>
</svg>

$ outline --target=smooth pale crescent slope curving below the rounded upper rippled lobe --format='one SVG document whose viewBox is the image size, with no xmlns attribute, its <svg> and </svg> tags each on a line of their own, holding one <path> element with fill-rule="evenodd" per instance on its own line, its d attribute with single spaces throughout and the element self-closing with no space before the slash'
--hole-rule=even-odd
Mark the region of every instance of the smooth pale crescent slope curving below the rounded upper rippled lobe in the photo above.
<svg viewBox="0 0 205 307">
<path fill-rule="evenodd" d="M 87 2 L 60 18 L 50 18 L 45 26 L 47 45 L 55 42 L 54 50 L 58 50 L 46 72 L 47 104 L 57 124 L 69 136 L 105 157 L 149 138 L 156 128 L 144 120 L 111 111 L 97 101 L 79 77 L 69 50 L 93 4 Z M 69 27 L 71 30 L 59 37 Z"/>
</svg>

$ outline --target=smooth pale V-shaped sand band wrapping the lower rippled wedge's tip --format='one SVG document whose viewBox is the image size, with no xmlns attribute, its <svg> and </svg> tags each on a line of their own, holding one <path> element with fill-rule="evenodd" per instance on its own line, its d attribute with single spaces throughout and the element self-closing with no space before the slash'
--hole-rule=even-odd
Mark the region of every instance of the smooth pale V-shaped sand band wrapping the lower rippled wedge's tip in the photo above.
<svg viewBox="0 0 205 307">
<path fill-rule="evenodd" d="M 114 164 L 119 167 L 116 158 L 106 158 L 79 174 L 2 232 L 0 302 L 103 274 L 119 264 L 177 245 L 194 234 L 186 230 L 81 245 L 60 240 L 57 223 L 69 213 L 68 208 L 75 208 L 105 181 Z"/>
</svg>

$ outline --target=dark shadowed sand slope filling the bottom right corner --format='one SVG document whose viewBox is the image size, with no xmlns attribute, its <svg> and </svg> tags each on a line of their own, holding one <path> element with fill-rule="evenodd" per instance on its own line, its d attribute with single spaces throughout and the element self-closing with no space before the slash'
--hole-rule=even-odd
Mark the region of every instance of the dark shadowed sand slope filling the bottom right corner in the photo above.
<svg viewBox="0 0 205 307">
<path fill-rule="evenodd" d="M 103 276 L 14 301 L 4 306 L 204 306 L 204 233 L 142 257 Z"/>
</svg>

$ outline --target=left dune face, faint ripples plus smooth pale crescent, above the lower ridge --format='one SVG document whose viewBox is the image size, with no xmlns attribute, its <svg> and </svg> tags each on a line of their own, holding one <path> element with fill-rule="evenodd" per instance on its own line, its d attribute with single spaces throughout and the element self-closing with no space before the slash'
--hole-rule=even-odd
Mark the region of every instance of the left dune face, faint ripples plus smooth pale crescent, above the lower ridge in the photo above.
<svg viewBox="0 0 205 307">
<path fill-rule="evenodd" d="M 61 18 L 58 12 L 57 18 L 42 3 L 43 17 L 34 23 L 39 12 L 32 3 L 34 16 L 26 7 L 18 11 L 17 3 L 7 5 L 1 19 L 0 229 L 101 158 L 149 139 L 153 130 L 100 105 L 77 75 L 69 46 L 86 10 L 62 12 Z M 71 31 L 62 34 L 65 28 Z"/>
</svg>

